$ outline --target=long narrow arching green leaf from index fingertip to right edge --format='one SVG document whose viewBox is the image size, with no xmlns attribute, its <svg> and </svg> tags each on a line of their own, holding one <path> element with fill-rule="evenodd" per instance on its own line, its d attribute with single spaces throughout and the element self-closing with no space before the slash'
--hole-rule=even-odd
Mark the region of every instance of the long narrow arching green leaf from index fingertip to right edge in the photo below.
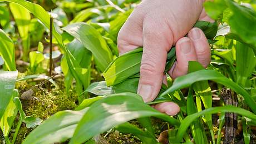
<svg viewBox="0 0 256 144">
<path fill-rule="evenodd" d="M 256 102 L 249 95 L 249 93 L 245 91 L 242 87 L 240 87 L 237 83 L 229 80 L 227 77 L 221 75 L 219 72 L 214 70 L 201 70 L 189 73 L 185 76 L 178 77 L 175 79 L 173 86 L 168 88 L 168 90 L 162 93 L 161 96 L 167 95 L 170 92 L 174 92 L 185 87 L 189 87 L 193 85 L 193 83 L 195 82 L 206 80 L 215 81 L 216 83 L 220 83 L 221 85 L 227 86 L 235 92 L 239 93 L 244 97 L 245 102 L 247 102 L 252 111 L 256 113 Z"/>
</svg>

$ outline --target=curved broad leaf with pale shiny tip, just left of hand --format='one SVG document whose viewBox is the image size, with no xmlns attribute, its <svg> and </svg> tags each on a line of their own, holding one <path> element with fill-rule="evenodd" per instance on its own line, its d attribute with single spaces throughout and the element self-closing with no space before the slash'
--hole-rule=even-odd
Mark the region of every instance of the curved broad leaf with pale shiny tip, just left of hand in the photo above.
<svg viewBox="0 0 256 144">
<path fill-rule="evenodd" d="M 62 29 L 77 38 L 83 46 L 92 52 L 100 71 L 106 69 L 112 61 L 112 53 L 105 39 L 95 28 L 86 23 L 73 23 Z"/>
</svg>

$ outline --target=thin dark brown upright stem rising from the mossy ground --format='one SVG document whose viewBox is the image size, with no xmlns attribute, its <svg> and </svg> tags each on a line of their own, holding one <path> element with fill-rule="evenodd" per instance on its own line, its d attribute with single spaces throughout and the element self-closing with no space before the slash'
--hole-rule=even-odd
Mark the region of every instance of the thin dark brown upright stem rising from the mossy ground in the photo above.
<svg viewBox="0 0 256 144">
<path fill-rule="evenodd" d="M 49 64 L 49 77 L 52 77 L 52 26 L 53 26 L 53 17 L 50 16 L 50 64 Z M 48 83 L 48 91 L 51 91 L 51 83 Z"/>
</svg>

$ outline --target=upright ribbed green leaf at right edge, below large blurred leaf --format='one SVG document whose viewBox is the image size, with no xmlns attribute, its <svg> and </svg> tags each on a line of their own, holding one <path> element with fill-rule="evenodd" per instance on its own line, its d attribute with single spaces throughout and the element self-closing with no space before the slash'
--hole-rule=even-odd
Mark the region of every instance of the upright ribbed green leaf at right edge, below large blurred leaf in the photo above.
<svg viewBox="0 0 256 144">
<path fill-rule="evenodd" d="M 235 53 L 237 55 L 237 83 L 245 87 L 250 87 L 249 79 L 256 66 L 256 57 L 253 53 L 253 49 L 248 48 L 248 46 L 243 43 L 237 42 Z"/>
</svg>

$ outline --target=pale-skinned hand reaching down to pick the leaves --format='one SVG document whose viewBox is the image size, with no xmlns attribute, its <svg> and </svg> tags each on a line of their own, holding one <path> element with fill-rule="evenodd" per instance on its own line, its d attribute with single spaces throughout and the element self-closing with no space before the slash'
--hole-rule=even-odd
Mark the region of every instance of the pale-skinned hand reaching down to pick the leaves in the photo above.
<svg viewBox="0 0 256 144">
<path fill-rule="evenodd" d="M 120 54 L 144 48 L 137 91 L 144 102 L 153 101 L 162 83 L 166 83 L 165 62 L 172 46 L 176 46 L 177 61 L 168 74 L 173 79 L 188 72 L 189 61 L 198 61 L 204 67 L 210 63 L 207 39 L 203 31 L 193 28 L 199 20 L 213 22 L 203 3 L 204 0 L 143 0 L 122 26 L 117 38 Z M 154 108 L 171 116 L 180 111 L 173 102 Z"/>
</svg>

